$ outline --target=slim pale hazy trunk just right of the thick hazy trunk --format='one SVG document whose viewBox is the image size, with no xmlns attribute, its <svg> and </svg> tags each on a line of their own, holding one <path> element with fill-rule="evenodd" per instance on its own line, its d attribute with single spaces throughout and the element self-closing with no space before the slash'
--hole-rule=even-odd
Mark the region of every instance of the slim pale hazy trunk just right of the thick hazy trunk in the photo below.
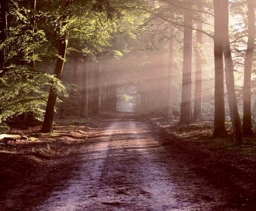
<svg viewBox="0 0 256 211">
<path fill-rule="evenodd" d="M 196 28 L 198 30 L 203 29 L 203 23 L 197 23 Z M 203 33 L 200 31 L 196 32 L 196 43 L 199 49 L 196 49 L 196 82 L 195 82 L 195 103 L 194 103 L 194 120 L 202 119 L 202 50 L 203 44 Z"/>
</svg>

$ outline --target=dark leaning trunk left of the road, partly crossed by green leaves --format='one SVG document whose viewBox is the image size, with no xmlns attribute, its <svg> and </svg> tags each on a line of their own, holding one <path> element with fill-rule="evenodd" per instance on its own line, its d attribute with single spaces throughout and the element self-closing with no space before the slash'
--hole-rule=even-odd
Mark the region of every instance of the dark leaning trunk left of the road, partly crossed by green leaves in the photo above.
<svg viewBox="0 0 256 211">
<path fill-rule="evenodd" d="M 66 36 L 62 36 L 57 40 L 58 46 L 58 58 L 56 60 L 56 65 L 54 69 L 54 75 L 57 79 L 61 79 L 62 70 L 64 66 L 64 60 L 66 57 L 66 50 L 68 44 L 68 33 Z M 57 93 L 53 86 L 50 88 L 49 97 L 46 105 L 45 115 L 44 115 L 44 123 L 42 129 L 40 130 L 42 133 L 50 133 L 52 132 L 53 126 L 53 116 L 55 111 L 55 104 L 57 100 Z"/>
</svg>

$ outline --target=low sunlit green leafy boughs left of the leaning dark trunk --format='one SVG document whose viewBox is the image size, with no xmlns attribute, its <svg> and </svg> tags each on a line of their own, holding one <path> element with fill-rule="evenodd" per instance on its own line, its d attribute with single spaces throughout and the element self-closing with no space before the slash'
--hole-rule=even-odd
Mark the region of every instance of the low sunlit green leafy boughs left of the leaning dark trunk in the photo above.
<svg viewBox="0 0 256 211">
<path fill-rule="evenodd" d="M 58 93 L 66 95 L 60 80 L 28 66 L 10 66 L 1 81 L 0 122 L 26 112 L 34 112 L 42 120 L 51 81 Z"/>
</svg>

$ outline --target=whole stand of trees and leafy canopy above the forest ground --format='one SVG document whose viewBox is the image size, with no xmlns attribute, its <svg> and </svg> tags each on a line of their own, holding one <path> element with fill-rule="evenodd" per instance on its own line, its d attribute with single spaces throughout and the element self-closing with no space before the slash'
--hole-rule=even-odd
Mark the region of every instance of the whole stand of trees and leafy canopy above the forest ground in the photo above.
<svg viewBox="0 0 256 211">
<path fill-rule="evenodd" d="M 87 111 L 115 112 L 127 100 L 136 111 L 180 115 L 180 124 L 200 121 L 214 107 L 213 137 L 226 137 L 226 83 L 235 144 L 252 134 L 253 0 L 3 0 L 0 10 L 0 122 L 44 116 L 41 131 L 52 132 L 61 100 L 84 118 Z"/>
</svg>

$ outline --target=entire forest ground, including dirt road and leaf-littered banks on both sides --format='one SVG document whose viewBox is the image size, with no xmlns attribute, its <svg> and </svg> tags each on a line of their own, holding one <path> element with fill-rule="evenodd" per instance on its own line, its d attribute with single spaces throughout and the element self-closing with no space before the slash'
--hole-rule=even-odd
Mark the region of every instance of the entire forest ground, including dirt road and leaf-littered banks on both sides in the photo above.
<svg viewBox="0 0 256 211">
<path fill-rule="evenodd" d="M 13 127 L 28 140 L 0 145 L 0 210 L 255 210 L 253 137 L 239 148 L 207 122 L 176 123 L 120 113 L 59 119 L 51 134 Z"/>
</svg>

